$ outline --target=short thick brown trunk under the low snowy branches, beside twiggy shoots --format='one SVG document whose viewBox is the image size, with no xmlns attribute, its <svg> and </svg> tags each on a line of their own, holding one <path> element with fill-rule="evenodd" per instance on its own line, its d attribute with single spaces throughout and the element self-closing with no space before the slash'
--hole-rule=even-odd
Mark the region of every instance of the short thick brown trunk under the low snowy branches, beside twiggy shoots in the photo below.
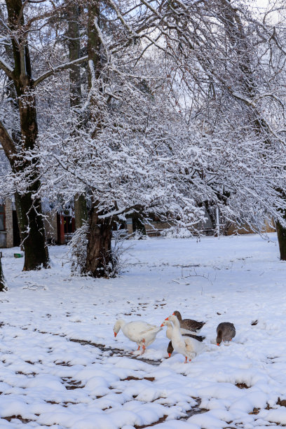
<svg viewBox="0 0 286 429">
<path fill-rule="evenodd" d="M 97 210 L 90 210 L 86 273 L 93 277 L 108 278 L 113 271 L 111 237 L 110 219 L 99 219 Z"/>
</svg>

